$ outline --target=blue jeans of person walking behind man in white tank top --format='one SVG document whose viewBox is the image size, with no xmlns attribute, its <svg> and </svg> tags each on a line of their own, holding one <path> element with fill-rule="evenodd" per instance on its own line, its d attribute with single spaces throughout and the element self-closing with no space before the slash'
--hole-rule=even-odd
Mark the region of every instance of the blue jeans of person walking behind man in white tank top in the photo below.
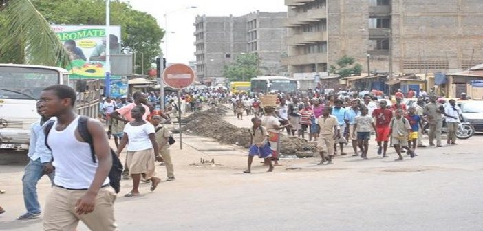
<svg viewBox="0 0 483 231">
<path fill-rule="evenodd" d="M 25 166 L 25 173 L 23 173 L 23 203 L 30 214 L 37 214 L 41 212 L 39 199 L 37 197 L 37 182 L 43 176 L 43 168 L 40 158 L 33 161 L 30 159 L 27 166 Z M 54 185 L 54 173 L 48 175 L 52 185 Z"/>
</svg>

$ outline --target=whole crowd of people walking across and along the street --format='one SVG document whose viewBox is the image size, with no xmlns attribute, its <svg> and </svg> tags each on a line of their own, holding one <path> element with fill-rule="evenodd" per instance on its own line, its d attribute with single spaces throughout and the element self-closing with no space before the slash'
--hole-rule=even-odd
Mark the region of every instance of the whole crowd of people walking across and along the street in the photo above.
<svg viewBox="0 0 483 231">
<path fill-rule="evenodd" d="M 94 120 L 76 115 L 76 92 L 72 88 L 50 86 L 42 91 L 37 103 L 41 119 L 32 124 L 30 161 L 22 178 L 26 212 L 17 219 L 33 219 L 41 215 L 36 184 L 47 175 L 53 190 L 45 205 L 44 230 L 75 230 L 79 221 L 92 230 L 116 230 L 116 195 L 109 188 L 108 177 L 113 158 L 119 158 L 127 149 L 124 179 L 132 179 L 133 186 L 125 197 L 141 195 L 141 181 L 151 183 L 151 191 L 157 188 L 161 179 L 156 176 L 156 161 L 166 166 L 167 181 L 175 180 L 169 152 L 172 137 L 164 124 L 171 122 L 173 111 L 201 109 L 197 107 L 198 102 L 211 106 L 231 104 L 239 120 L 243 120 L 244 113 L 253 115 L 245 173 L 251 172 L 255 155 L 264 159 L 269 172 L 280 165 L 281 135 L 285 132 L 316 142 L 321 155 L 319 165 L 333 164 L 334 156 L 347 155 L 344 146 L 349 142 L 354 157 L 369 159 L 372 135 L 377 142 L 378 155 L 388 157 L 387 148 L 391 145 L 398 155 L 396 161 L 404 159 L 403 152 L 414 158 L 417 148 L 426 147 L 422 144 L 425 123 L 429 124 L 429 145 L 442 147 L 443 120 L 449 129 L 447 144 L 457 144 L 455 132 L 462 120 L 462 112 L 455 100 L 445 102 L 431 94 L 418 95 L 411 91 L 407 94 L 397 91 L 393 104 L 379 91 L 279 92 L 277 106 L 264 107 L 261 94 L 231 94 L 224 89 L 207 89 L 182 92 L 179 100 L 185 105 L 178 105 L 177 94 L 168 94 L 164 98 L 164 110 L 157 110 L 158 94 L 136 91 L 132 97 L 103 98 L 100 118 Z M 415 98 L 416 104 L 407 107 L 404 98 Z M 390 106 L 388 102 L 391 102 Z M 89 139 L 85 139 L 85 133 Z M 111 136 L 116 151 L 109 146 Z M 111 152 L 115 154 L 111 155 Z M 2 212 L 4 210 L 0 207 Z"/>
</svg>

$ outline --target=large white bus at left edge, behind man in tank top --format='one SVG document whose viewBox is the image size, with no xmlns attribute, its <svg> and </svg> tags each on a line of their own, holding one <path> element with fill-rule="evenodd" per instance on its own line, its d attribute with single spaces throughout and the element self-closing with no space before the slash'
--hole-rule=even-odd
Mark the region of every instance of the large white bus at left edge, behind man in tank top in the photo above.
<svg viewBox="0 0 483 231">
<path fill-rule="evenodd" d="M 0 150 L 27 151 L 30 126 L 40 118 L 36 102 L 41 91 L 50 85 L 69 85 L 69 72 L 59 67 L 0 64 L 0 83 Z M 98 108 L 98 103 L 93 107 Z"/>
</svg>

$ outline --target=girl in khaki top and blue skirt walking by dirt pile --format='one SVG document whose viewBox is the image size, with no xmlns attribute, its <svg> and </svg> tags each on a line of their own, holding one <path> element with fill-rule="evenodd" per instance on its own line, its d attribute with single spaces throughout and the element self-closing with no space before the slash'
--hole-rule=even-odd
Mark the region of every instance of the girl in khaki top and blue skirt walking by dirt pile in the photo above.
<svg viewBox="0 0 483 231">
<path fill-rule="evenodd" d="M 269 167 L 268 172 L 273 171 L 273 164 L 270 161 L 272 158 L 272 149 L 270 144 L 268 144 L 268 132 L 264 126 L 261 126 L 261 119 L 254 117 L 252 118 L 252 129 L 250 129 L 250 150 L 248 151 L 248 169 L 244 173 L 251 173 L 251 167 L 253 162 L 253 157 L 258 155 L 259 158 L 264 158 L 268 160 Z"/>
</svg>

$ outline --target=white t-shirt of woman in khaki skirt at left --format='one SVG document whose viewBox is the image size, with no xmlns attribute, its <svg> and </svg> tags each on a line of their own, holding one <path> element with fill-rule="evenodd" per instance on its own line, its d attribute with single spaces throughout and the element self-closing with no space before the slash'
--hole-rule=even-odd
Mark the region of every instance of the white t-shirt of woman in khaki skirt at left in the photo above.
<svg viewBox="0 0 483 231">
<path fill-rule="evenodd" d="M 124 133 L 129 138 L 127 151 L 142 151 L 153 148 L 148 136 L 155 133 L 153 124 L 147 122 L 141 126 L 131 126 L 131 123 L 128 123 L 124 127 Z"/>
</svg>

